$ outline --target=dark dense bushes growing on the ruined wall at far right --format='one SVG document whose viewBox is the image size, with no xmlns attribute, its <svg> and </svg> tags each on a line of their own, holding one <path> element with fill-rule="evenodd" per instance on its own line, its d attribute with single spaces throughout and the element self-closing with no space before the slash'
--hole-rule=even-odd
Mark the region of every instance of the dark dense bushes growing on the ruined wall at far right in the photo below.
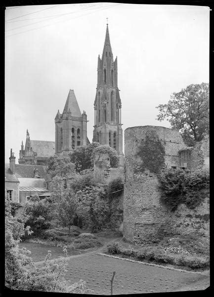
<svg viewBox="0 0 214 297">
<path fill-rule="evenodd" d="M 174 211 L 181 203 L 195 208 L 206 197 L 210 174 L 207 170 L 169 169 L 159 174 L 161 201 Z"/>
</svg>

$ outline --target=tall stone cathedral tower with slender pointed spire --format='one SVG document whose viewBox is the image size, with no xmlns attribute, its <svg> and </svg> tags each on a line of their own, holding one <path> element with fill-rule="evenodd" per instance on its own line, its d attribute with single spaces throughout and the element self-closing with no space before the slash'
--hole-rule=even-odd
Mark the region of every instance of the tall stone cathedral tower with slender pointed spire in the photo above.
<svg viewBox="0 0 214 297">
<path fill-rule="evenodd" d="M 98 56 L 93 142 L 115 148 L 120 155 L 120 166 L 123 166 L 123 130 L 121 99 L 118 89 L 118 65 L 117 57 L 115 61 L 113 58 L 108 24 L 102 59 Z"/>
</svg>

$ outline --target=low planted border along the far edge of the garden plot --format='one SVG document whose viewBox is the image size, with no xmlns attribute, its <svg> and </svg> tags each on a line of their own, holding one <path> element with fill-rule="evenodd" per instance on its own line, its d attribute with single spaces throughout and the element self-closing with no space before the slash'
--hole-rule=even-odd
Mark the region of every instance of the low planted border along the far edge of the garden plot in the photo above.
<svg viewBox="0 0 214 297">
<path fill-rule="evenodd" d="M 198 256 L 189 256 L 185 254 L 166 253 L 161 247 L 142 247 L 139 250 L 133 248 L 124 248 L 118 243 L 107 246 L 110 254 L 119 256 L 134 257 L 136 260 L 155 261 L 157 263 L 168 263 L 178 266 L 187 266 L 192 269 L 205 269 L 210 265 L 209 257 L 202 258 Z"/>
</svg>

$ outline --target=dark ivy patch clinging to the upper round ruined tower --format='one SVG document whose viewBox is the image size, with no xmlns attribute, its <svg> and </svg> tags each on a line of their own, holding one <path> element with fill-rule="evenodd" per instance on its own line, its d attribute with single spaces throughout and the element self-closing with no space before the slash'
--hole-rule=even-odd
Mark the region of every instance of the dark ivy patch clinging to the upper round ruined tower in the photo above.
<svg viewBox="0 0 214 297">
<path fill-rule="evenodd" d="M 165 166 L 165 148 L 162 145 L 156 131 L 147 131 L 146 137 L 139 145 L 137 155 L 141 158 L 139 171 L 149 169 L 153 173 L 159 173 Z"/>
</svg>

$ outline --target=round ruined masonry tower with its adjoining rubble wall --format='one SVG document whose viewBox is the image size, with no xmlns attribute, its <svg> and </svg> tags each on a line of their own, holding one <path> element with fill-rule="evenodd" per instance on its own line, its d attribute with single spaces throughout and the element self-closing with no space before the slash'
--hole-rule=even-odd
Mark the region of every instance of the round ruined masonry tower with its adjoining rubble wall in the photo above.
<svg viewBox="0 0 214 297">
<path fill-rule="evenodd" d="M 173 214 L 160 203 L 161 192 L 157 176 L 152 173 L 136 173 L 135 166 L 140 161 L 137 156 L 139 144 L 145 138 L 147 131 L 155 131 L 165 147 L 166 168 L 184 167 L 184 154 L 191 151 L 187 166 L 195 168 L 199 163 L 203 167 L 203 155 L 209 155 L 208 144 L 189 150 L 183 143 L 181 135 L 165 127 L 141 126 L 125 130 L 125 187 L 124 187 L 124 223 L 123 235 L 130 242 L 140 245 L 158 243 L 167 235 L 185 234 L 186 228 L 191 231 L 199 230 L 197 218 L 203 209 L 204 217 L 209 216 L 209 197 L 198 207 L 191 210 L 194 224 L 190 222 L 188 209 L 185 205 L 178 207 Z M 201 147 L 203 149 L 201 149 Z M 203 151 L 204 150 L 204 151 Z M 209 195 L 208 195 L 209 196 Z M 185 211 L 184 211 L 184 210 Z M 182 214 L 182 212 L 184 212 Z M 208 229 L 206 224 L 202 228 Z M 198 226 L 198 227 L 197 227 Z M 183 227 L 183 228 L 182 228 Z"/>
</svg>

